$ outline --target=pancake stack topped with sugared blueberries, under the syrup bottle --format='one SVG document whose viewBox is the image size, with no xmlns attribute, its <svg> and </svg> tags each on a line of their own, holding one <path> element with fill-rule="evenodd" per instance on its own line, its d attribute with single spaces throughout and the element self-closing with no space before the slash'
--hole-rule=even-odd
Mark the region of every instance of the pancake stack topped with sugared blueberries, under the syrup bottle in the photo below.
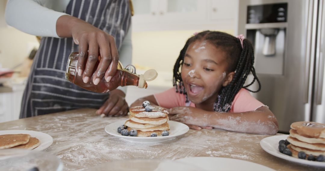
<svg viewBox="0 0 325 171">
<path fill-rule="evenodd" d="M 150 106 L 145 101 L 142 106 L 130 108 L 130 118 L 125 121 L 127 130 L 136 130 L 138 137 L 149 137 L 155 132 L 158 136 L 169 130 L 168 111 L 158 106 Z"/>
</svg>

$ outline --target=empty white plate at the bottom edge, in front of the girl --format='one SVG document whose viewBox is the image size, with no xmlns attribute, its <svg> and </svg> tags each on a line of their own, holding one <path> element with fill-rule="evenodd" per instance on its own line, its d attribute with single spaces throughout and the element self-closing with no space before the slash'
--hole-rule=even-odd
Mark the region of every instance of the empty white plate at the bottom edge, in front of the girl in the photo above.
<svg viewBox="0 0 325 171">
<path fill-rule="evenodd" d="M 264 165 L 248 162 L 240 159 L 224 158 L 224 157 L 188 157 L 175 160 L 177 162 L 195 165 L 207 171 L 217 170 L 241 170 L 241 171 L 274 171 Z"/>
</svg>

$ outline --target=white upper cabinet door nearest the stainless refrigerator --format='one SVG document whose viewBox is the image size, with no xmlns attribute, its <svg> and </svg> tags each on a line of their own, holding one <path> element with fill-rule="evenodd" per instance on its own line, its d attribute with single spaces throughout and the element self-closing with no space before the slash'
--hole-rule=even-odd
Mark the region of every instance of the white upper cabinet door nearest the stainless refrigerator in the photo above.
<svg viewBox="0 0 325 171">
<path fill-rule="evenodd" d="M 238 0 L 210 0 L 208 13 L 211 20 L 234 19 L 238 11 Z"/>
</svg>

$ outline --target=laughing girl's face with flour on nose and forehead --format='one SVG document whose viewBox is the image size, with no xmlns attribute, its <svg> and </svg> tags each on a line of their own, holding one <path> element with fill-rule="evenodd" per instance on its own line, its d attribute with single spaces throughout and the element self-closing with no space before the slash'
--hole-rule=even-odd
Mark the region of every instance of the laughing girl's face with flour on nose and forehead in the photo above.
<svg viewBox="0 0 325 171">
<path fill-rule="evenodd" d="M 181 76 L 191 102 L 213 104 L 222 86 L 234 75 L 227 73 L 226 54 L 207 41 L 195 41 L 185 53 Z"/>
</svg>

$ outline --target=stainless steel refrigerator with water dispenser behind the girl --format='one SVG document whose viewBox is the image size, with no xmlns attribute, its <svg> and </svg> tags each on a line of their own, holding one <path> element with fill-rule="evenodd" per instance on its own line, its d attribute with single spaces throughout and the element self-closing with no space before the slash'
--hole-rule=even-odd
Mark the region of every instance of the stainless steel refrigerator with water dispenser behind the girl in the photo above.
<svg viewBox="0 0 325 171">
<path fill-rule="evenodd" d="M 238 13 L 236 32 L 253 43 L 262 84 L 253 96 L 279 132 L 296 121 L 325 123 L 325 0 L 239 0 Z"/>
</svg>

